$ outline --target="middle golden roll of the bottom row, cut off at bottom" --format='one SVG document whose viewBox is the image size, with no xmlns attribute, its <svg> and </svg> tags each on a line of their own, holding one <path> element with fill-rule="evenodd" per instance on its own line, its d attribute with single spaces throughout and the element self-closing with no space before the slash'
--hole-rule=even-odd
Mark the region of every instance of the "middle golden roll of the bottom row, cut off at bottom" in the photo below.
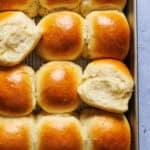
<svg viewBox="0 0 150 150">
<path fill-rule="evenodd" d="M 37 123 L 37 150 L 83 150 L 79 121 L 73 116 L 43 116 Z"/>
</svg>

